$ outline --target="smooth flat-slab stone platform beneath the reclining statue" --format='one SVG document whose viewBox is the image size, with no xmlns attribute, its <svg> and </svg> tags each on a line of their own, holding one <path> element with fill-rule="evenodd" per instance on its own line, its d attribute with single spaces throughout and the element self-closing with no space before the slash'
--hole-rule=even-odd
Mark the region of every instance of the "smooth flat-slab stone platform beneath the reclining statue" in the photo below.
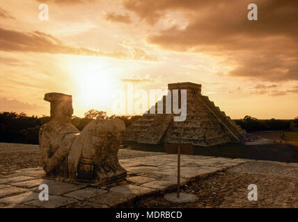
<svg viewBox="0 0 298 222">
<path fill-rule="evenodd" d="M 181 186 L 250 161 L 253 160 L 182 155 Z M 107 186 L 45 178 L 40 167 L 0 176 L 0 207 L 123 207 L 176 187 L 177 155 L 136 157 L 119 162 L 127 169 L 127 180 Z M 38 198 L 41 184 L 49 187 L 48 201 Z"/>
</svg>

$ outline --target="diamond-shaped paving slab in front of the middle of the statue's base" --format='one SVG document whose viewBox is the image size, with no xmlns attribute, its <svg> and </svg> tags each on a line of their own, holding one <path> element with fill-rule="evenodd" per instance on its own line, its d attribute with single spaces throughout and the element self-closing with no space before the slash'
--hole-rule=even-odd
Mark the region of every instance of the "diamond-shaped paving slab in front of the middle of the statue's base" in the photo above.
<svg viewBox="0 0 298 222">
<path fill-rule="evenodd" d="M 68 194 L 65 194 L 63 196 L 75 198 L 77 200 L 88 200 L 90 198 L 93 198 L 95 196 L 99 196 L 101 194 L 106 194 L 107 191 L 104 189 L 98 189 L 93 187 L 87 187 L 84 189 L 79 189 L 77 191 L 72 191 Z"/>
</svg>

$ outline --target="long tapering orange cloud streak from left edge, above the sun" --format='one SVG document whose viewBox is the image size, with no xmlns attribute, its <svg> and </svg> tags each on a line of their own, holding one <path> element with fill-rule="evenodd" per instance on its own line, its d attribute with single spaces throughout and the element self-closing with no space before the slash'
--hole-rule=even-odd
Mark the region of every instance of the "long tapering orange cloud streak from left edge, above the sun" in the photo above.
<svg viewBox="0 0 298 222">
<path fill-rule="evenodd" d="M 21 33 L 18 31 L 6 30 L 4 28 L 0 28 L 0 51 L 107 56 L 133 60 L 156 60 L 155 57 L 148 55 L 145 51 L 139 48 L 135 48 L 133 51 L 128 52 L 95 51 L 92 49 L 65 45 L 56 37 L 40 31 Z"/>
</svg>

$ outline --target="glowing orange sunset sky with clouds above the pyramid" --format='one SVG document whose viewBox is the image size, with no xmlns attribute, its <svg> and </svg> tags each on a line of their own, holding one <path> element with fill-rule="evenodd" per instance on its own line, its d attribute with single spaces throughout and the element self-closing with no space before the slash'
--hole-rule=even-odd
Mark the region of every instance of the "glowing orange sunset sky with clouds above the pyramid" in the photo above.
<svg viewBox="0 0 298 222">
<path fill-rule="evenodd" d="M 193 82 L 232 118 L 293 119 L 297 10 L 290 0 L 0 0 L 0 111 L 49 115 L 44 94 L 62 92 L 77 116 L 111 114 L 125 83 Z"/>
</svg>

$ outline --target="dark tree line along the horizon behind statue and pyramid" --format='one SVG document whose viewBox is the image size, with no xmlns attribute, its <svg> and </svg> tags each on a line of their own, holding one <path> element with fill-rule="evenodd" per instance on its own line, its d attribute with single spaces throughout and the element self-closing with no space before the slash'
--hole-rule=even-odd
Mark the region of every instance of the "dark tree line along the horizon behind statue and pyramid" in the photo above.
<svg viewBox="0 0 298 222">
<path fill-rule="evenodd" d="M 113 116 L 115 117 L 115 116 Z M 72 124 L 78 129 L 83 128 L 93 121 L 93 119 L 107 119 L 107 113 L 97 110 L 89 110 L 84 114 L 84 118 L 72 117 Z M 122 119 L 125 126 L 139 118 L 139 116 L 117 116 Z M 38 144 L 38 132 L 40 126 L 47 123 L 50 117 L 31 116 L 24 112 L 0 112 L 0 142 L 19 143 L 19 144 Z M 269 119 L 259 120 L 250 116 L 244 119 L 235 120 L 247 132 L 257 130 L 286 130 L 290 128 L 290 120 Z"/>
</svg>

